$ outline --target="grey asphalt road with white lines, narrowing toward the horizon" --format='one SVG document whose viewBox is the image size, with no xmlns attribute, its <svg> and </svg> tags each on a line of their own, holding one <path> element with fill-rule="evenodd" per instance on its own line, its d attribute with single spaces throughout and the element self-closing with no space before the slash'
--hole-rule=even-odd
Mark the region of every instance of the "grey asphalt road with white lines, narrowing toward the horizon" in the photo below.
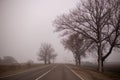
<svg viewBox="0 0 120 80">
<path fill-rule="evenodd" d="M 80 80 L 65 65 L 50 65 L 20 74 L 0 78 L 0 80 Z"/>
</svg>

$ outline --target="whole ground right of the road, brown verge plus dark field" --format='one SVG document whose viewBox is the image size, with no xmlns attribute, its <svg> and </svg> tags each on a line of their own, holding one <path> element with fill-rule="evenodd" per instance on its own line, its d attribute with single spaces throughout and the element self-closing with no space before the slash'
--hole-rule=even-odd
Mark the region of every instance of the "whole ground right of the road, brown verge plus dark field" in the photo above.
<svg viewBox="0 0 120 80">
<path fill-rule="evenodd" d="M 96 65 L 70 65 L 77 74 L 85 80 L 120 80 L 120 65 L 119 64 L 106 64 L 104 72 L 99 73 Z"/>
</svg>

